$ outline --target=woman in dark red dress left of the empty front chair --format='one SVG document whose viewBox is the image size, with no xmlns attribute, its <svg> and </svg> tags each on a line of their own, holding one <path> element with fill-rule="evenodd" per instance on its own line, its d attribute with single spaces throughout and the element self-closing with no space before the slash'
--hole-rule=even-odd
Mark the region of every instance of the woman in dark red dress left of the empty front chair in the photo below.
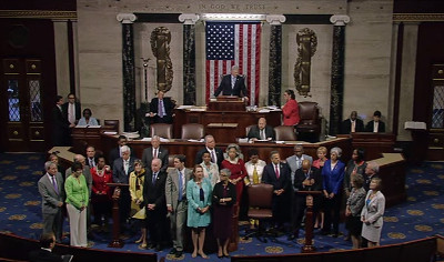
<svg viewBox="0 0 444 262">
<path fill-rule="evenodd" d="M 245 170 L 245 162 L 240 158 L 241 149 L 238 144 L 231 143 L 226 147 L 226 155 L 222 161 L 222 169 L 229 169 L 231 171 L 230 182 L 236 187 L 236 205 L 242 199 L 243 191 L 243 179 L 248 175 Z"/>
</svg>

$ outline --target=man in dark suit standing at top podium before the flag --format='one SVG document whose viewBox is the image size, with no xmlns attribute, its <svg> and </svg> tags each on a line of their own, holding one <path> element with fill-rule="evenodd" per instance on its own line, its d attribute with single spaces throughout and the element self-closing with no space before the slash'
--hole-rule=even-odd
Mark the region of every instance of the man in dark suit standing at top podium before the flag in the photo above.
<svg viewBox="0 0 444 262">
<path fill-rule="evenodd" d="M 231 68 L 231 74 L 223 75 L 221 84 L 219 84 L 219 88 L 214 92 L 214 97 L 218 97 L 221 92 L 223 95 L 245 97 L 248 99 L 245 78 L 239 75 L 238 66 Z"/>
</svg>

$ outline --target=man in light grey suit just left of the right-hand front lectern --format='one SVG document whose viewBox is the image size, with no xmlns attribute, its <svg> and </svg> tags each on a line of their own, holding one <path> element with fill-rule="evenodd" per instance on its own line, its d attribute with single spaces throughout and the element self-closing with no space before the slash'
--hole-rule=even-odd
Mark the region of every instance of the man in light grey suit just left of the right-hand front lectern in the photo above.
<svg viewBox="0 0 444 262">
<path fill-rule="evenodd" d="M 292 222 L 292 232 L 296 231 L 295 224 L 296 224 L 296 216 L 294 215 L 295 213 L 295 205 L 296 205 L 296 188 L 294 188 L 294 177 L 296 173 L 296 170 L 302 168 L 302 161 L 309 160 L 310 165 L 313 163 L 313 158 L 304 154 L 304 147 L 302 144 L 296 144 L 294 145 L 294 154 L 292 157 L 286 158 L 286 163 L 290 165 L 291 169 L 291 222 Z M 289 236 L 289 239 L 292 239 L 292 235 Z"/>
</svg>

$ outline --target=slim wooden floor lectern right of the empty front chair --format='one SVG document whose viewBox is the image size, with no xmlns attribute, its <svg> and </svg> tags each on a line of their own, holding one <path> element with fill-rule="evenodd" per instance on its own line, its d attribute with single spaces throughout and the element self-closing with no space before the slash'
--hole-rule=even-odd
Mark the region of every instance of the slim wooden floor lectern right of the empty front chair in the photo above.
<svg viewBox="0 0 444 262">
<path fill-rule="evenodd" d="M 302 253 L 312 253 L 316 250 L 313 244 L 313 196 L 321 195 L 322 191 L 297 191 L 299 195 L 305 196 L 306 211 L 305 211 L 305 240 L 304 245 L 301 248 Z"/>
</svg>

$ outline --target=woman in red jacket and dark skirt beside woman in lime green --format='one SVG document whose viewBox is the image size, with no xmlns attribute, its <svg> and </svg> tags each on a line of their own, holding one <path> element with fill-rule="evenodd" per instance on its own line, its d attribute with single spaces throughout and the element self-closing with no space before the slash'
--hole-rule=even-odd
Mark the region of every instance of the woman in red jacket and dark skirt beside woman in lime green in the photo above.
<svg viewBox="0 0 444 262">
<path fill-rule="evenodd" d="M 111 214 L 111 188 L 107 184 L 112 183 L 112 172 L 110 167 L 105 165 L 103 157 L 100 157 L 97 163 L 97 167 L 91 169 L 91 202 L 94 209 L 94 224 L 104 226 L 102 221 L 108 223 L 108 218 Z"/>
</svg>

